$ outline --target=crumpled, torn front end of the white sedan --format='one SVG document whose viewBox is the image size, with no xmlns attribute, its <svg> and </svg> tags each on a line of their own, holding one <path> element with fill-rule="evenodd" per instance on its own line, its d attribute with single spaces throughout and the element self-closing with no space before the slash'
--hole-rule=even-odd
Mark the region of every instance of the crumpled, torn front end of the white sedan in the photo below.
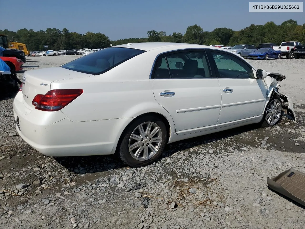
<svg viewBox="0 0 305 229">
<path fill-rule="evenodd" d="M 285 75 L 274 72 L 267 72 L 267 77 L 264 79 L 268 87 L 268 99 L 270 100 L 274 95 L 278 95 L 283 100 L 283 108 L 287 111 L 292 120 L 296 122 L 296 114 L 293 108 L 293 102 L 287 95 L 279 93 L 279 83 L 286 79 Z"/>
</svg>

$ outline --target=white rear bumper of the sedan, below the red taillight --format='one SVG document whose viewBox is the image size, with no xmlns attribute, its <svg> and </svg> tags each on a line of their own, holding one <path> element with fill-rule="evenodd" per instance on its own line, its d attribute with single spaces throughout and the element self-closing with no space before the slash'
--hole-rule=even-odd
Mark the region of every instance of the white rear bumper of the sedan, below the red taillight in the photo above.
<svg viewBox="0 0 305 229">
<path fill-rule="evenodd" d="M 17 93 L 13 111 L 20 137 L 38 152 L 52 157 L 113 154 L 122 126 L 132 120 L 108 119 L 71 122 L 61 111 L 29 109 Z M 124 122 L 124 123 L 123 123 Z M 19 129 L 20 127 L 20 129 Z"/>
</svg>

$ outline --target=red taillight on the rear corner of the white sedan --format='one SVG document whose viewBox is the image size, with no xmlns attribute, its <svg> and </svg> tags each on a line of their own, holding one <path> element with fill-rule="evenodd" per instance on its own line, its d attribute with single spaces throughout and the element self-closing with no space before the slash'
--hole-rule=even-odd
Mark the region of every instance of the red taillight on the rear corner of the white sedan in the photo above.
<svg viewBox="0 0 305 229">
<path fill-rule="evenodd" d="M 41 111 L 59 111 L 73 100 L 75 100 L 78 96 L 83 93 L 83 89 L 57 89 L 48 91 L 45 95 L 37 95 L 35 96 L 37 104 L 35 105 L 34 100 L 32 104 L 36 106 L 35 108 Z"/>
</svg>

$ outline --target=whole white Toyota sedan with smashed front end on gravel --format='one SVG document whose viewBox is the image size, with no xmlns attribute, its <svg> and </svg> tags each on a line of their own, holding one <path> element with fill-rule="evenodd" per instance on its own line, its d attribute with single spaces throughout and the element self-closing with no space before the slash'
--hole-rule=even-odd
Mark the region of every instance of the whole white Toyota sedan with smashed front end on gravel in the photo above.
<svg viewBox="0 0 305 229">
<path fill-rule="evenodd" d="M 296 120 L 292 101 L 278 92 L 283 79 L 212 46 L 129 43 L 26 71 L 14 117 L 19 135 L 44 155 L 118 153 L 137 167 L 167 143 L 275 125 L 282 107 Z"/>
</svg>

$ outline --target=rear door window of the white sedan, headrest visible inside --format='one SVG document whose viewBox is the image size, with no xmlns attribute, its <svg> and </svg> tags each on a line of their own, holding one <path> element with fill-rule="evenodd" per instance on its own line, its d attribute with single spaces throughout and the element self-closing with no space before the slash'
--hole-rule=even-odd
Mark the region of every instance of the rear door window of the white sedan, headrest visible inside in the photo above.
<svg viewBox="0 0 305 229">
<path fill-rule="evenodd" d="M 162 78 L 210 78 L 204 51 L 191 51 L 159 56 L 154 79 Z"/>
</svg>

